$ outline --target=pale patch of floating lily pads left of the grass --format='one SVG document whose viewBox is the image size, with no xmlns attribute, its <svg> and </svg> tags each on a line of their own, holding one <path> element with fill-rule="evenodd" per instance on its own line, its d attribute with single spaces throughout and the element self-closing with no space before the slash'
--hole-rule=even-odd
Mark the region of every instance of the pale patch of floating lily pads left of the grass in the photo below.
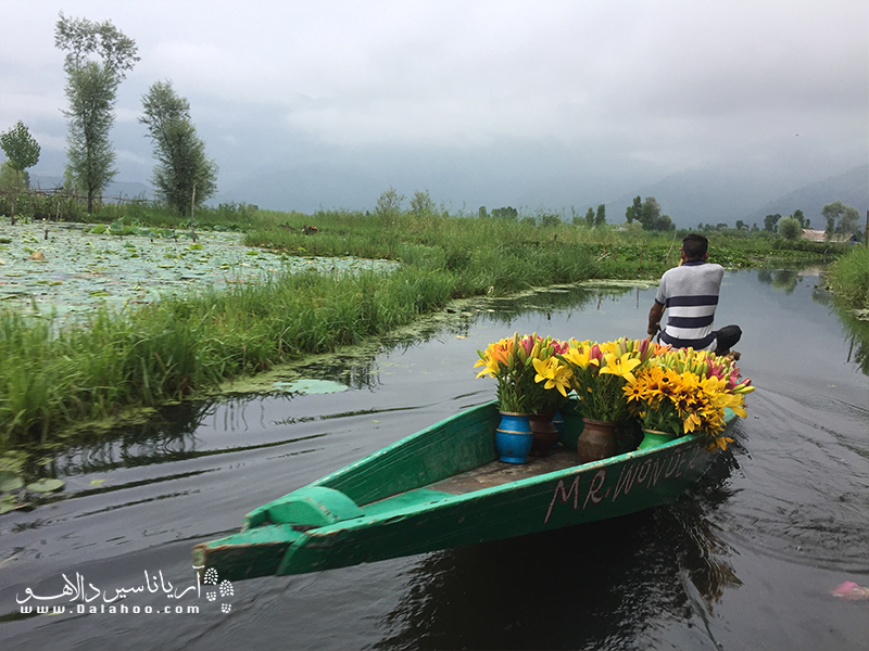
<svg viewBox="0 0 869 651">
<path fill-rule="evenodd" d="M 28 317 L 51 318 L 62 327 L 87 322 L 102 305 L 119 309 L 169 293 L 261 283 L 310 269 L 352 273 L 396 266 L 354 257 L 288 256 L 251 248 L 241 243 L 240 234 L 225 231 L 200 233 L 193 242 L 189 231 L 136 228 L 124 237 L 121 228 L 52 225 L 40 240 L 32 225 L 3 227 L 8 237 L 0 251 L 4 263 L 0 304 Z M 34 264 L 35 246 L 42 253 L 39 264 Z"/>
</svg>

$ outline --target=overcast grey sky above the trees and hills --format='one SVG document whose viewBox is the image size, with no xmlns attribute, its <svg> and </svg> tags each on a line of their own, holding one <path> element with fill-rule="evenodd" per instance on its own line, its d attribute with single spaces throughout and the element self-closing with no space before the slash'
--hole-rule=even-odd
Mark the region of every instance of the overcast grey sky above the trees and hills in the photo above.
<svg viewBox="0 0 869 651">
<path fill-rule="evenodd" d="M 29 127 L 32 175 L 65 165 L 60 11 L 139 48 L 116 180 L 150 177 L 136 118 L 168 79 L 223 201 L 367 208 L 394 186 L 474 212 L 558 207 L 685 170 L 785 188 L 869 158 L 865 0 L 0 0 L 0 130 Z"/>
</svg>

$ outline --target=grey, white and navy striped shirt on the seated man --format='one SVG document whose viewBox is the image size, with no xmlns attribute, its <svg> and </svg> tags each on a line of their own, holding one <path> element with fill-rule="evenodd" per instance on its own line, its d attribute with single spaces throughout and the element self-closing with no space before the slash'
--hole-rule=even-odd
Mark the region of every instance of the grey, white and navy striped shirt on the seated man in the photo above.
<svg viewBox="0 0 869 651">
<path fill-rule="evenodd" d="M 725 268 L 704 260 L 689 260 L 660 278 L 655 302 L 667 308 L 667 326 L 660 342 L 676 348 L 715 350 L 715 308 Z"/>
</svg>

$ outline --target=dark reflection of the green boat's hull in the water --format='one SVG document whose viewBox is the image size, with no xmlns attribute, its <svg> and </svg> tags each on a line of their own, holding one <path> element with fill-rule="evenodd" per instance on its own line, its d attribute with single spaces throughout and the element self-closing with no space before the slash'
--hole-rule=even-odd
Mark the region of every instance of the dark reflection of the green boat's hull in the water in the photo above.
<svg viewBox="0 0 869 651">
<path fill-rule="evenodd" d="M 431 554 L 375 648 L 612 649 L 703 625 L 742 585 L 713 524 L 736 470 L 727 452 L 669 507 Z"/>
</svg>

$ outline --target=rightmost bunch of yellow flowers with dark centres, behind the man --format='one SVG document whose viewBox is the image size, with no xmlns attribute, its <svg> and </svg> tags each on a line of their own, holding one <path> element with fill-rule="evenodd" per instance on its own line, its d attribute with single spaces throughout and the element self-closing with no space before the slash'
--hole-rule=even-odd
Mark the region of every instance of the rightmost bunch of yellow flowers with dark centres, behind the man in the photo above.
<svg viewBox="0 0 869 651">
<path fill-rule="evenodd" d="M 658 350 L 624 387 L 630 410 L 644 430 L 676 436 L 697 433 L 709 438 L 709 449 L 726 449 L 732 439 L 723 432 L 725 408 L 745 418 L 745 394 L 754 391 L 751 379 L 727 357 L 704 350 Z"/>
</svg>

